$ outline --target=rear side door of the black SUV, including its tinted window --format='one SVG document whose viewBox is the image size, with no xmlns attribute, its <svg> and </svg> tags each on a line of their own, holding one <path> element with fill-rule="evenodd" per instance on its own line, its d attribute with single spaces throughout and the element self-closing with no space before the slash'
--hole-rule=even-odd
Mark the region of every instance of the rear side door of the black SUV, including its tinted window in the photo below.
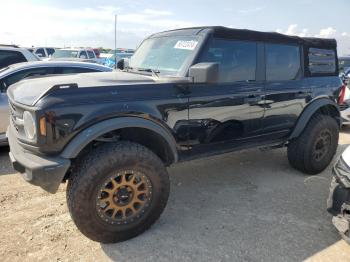
<svg viewBox="0 0 350 262">
<path fill-rule="evenodd" d="M 266 83 L 264 133 L 287 136 L 294 127 L 311 88 L 303 77 L 299 45 L 265 44 Z"/>
</svg>

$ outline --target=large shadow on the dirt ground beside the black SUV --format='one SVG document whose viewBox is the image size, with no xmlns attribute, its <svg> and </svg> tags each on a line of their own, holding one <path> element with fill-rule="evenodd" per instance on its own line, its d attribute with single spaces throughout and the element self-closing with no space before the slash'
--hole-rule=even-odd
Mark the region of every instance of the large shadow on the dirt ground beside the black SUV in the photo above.
<svg viewBox="0 0 350 262">
<path fill-rule="evenodd" d="M 340 239 L 326 211 L 331 166 L 304 175 L 289 166 L 285 149 L 177 164 L 160 220 L 101 247 L 115 261 L 304 260 Z"/>
</svg>

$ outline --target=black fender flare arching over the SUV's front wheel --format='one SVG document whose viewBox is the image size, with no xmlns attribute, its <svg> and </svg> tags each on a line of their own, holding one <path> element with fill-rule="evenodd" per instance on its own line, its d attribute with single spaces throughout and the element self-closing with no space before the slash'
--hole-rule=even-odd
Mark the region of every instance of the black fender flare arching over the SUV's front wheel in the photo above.
<svg viewBox="0 0 350 262">
<path fill-rule="evenodd" d="M 70 143 L 62 151 L 61 157 L 67 159 L 76 158 L 85 146 L 87 146 L 90 142 L 99 136 L 113 130 L 128 127 L 145 128 L 157 133 L 168 144 L 173 157 L 172 162 L 176 163 L 178 161 L 176 141 L 173 135 L 161 125 L 151 120 L 139 117 L 112 118 L 87 127 L 70 141 Z"/>
</svg>

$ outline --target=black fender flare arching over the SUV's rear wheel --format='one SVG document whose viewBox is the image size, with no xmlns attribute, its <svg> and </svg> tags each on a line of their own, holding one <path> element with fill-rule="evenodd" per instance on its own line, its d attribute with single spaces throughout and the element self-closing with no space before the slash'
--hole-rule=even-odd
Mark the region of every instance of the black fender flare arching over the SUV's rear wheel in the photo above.
<svg viewBox="0 0 350 262">
<path fill-rule="evenodd" d="M 319 99 L 314 100 L 301 113 L 301 116 L 298 118 L 297 123 L 293 129 L 293 132 L 289 136 L 288 140 L 298 137 L 301 134 L 301 132 L 303 132 L 304 128 L 306 127 L 307 123 L 309 122 L 309 120 L 313 116 L 313 114 L 317 110 L 319 110 L 321 107 L 327 106 L 327 105 L 333 106 L 339 112 L 338 104 L 329 98 L 323 97 L 323 98 L 319 98 Z M 340 116 L 340 113 L 339 113 L 339 116 Z M 339 119 L 337 119 L 337 121 L 338 121 L 339 125 L 341 125 L 340 117 L 339 117 Z"/>
</svg>

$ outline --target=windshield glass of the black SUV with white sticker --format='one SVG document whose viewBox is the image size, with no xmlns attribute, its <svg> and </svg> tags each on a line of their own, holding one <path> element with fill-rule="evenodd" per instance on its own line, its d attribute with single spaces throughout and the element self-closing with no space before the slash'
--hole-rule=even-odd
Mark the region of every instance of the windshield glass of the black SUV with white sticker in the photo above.
<svg viewBox="0 0 350 262">
<path fill-rule="evenodd" d="M 160 74 L 179 75 L 198 48 L 197 36 L 170 36 L 145 40 L 131 57 L 132 69 L 151 69 Z"/>
</svg>

